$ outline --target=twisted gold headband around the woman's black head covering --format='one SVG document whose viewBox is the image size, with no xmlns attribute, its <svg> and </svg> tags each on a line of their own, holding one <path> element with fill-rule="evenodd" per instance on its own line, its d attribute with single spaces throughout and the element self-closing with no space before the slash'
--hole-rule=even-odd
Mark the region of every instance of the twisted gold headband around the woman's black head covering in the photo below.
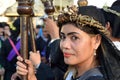
<svg viewBox="0 0 120 80">
<path fill-rule="evenodd" d="M 87 15 L 78 14 L 77 7 L 72 6 L 67 7 L 67 9 L 58 16 L 58 25 L 62 25 L 63 23 L 67 22 L 75 22 L 78 25 L 82 25 L 82 27 L 84 27 L 84 25 L 89 25 L 91 28 L 97 28 L 100 32 L 104 33 L 105 35 L 108 34 L 107 30 L 104 26 L 102 26 L 101 23 Z"/>
</svg>

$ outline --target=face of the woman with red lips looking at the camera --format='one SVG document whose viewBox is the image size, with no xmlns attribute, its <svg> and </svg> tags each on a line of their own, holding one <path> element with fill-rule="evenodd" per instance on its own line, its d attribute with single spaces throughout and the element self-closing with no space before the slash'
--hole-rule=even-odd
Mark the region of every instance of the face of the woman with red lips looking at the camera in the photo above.
<svg viewBox="0 0 120 80">
<path fill-rule="evenodd" d="M 79 28 L 66 24 L 61 29 L 60 37 L 60 47 L 66 64 L 78 65 L 94 57 L 97 47 L 95 36 L 91 37 Z"/>
</svg>

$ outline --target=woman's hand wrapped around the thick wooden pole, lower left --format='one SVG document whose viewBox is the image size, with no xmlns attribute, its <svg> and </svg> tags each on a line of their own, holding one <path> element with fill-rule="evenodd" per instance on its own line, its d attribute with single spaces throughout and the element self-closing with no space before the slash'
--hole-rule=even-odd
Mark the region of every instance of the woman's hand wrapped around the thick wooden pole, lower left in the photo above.
<svg viewBox="0 0 120 80">
<path fill-rule="evenodd" d="M 17 74 L 20 74 L 20 75 L 28 74 L 28 80 L 37 80 L 32 62 L 27 59 L 24 61 L 23 58 L 20 56 L 18 56 L 17 59 L 18 59 L 17 67 L 16 67 Z"/>
</svg>

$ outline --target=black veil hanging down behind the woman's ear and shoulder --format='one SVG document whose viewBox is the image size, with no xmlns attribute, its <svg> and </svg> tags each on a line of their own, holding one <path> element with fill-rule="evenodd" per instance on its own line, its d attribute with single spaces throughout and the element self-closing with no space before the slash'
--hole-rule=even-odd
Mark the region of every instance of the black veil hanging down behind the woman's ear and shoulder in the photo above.
<svg viewBox="0 0 120 80">
<path fill-rule="evenodd" d="M 98 58 L 101 64 L 101 72 L 106 80 L 120 80 L 120 51 L 112 41 L 102 35 L 102 43 L 98 49 Z"/>
</svg>

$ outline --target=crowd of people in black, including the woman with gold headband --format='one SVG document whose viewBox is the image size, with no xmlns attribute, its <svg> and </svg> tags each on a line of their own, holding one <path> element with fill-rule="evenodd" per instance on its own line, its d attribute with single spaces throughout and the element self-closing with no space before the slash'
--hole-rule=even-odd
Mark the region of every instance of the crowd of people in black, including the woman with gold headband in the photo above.
<svg viewBox="0 0 120 80">
<path fill-rule="evenodd" d="M 1 22 L 0 75 L 3 80 L 120 80 L 119 14 L 120 0 L 102 9 L 68 6 L 56 21 L 45 18 L 44 26 L 36 25 L 37 52 L 28 44 L 25 60 L 12 44 L 20 53 L 20 18 L 13 22 L 16 30 Z"/>
</svg>

